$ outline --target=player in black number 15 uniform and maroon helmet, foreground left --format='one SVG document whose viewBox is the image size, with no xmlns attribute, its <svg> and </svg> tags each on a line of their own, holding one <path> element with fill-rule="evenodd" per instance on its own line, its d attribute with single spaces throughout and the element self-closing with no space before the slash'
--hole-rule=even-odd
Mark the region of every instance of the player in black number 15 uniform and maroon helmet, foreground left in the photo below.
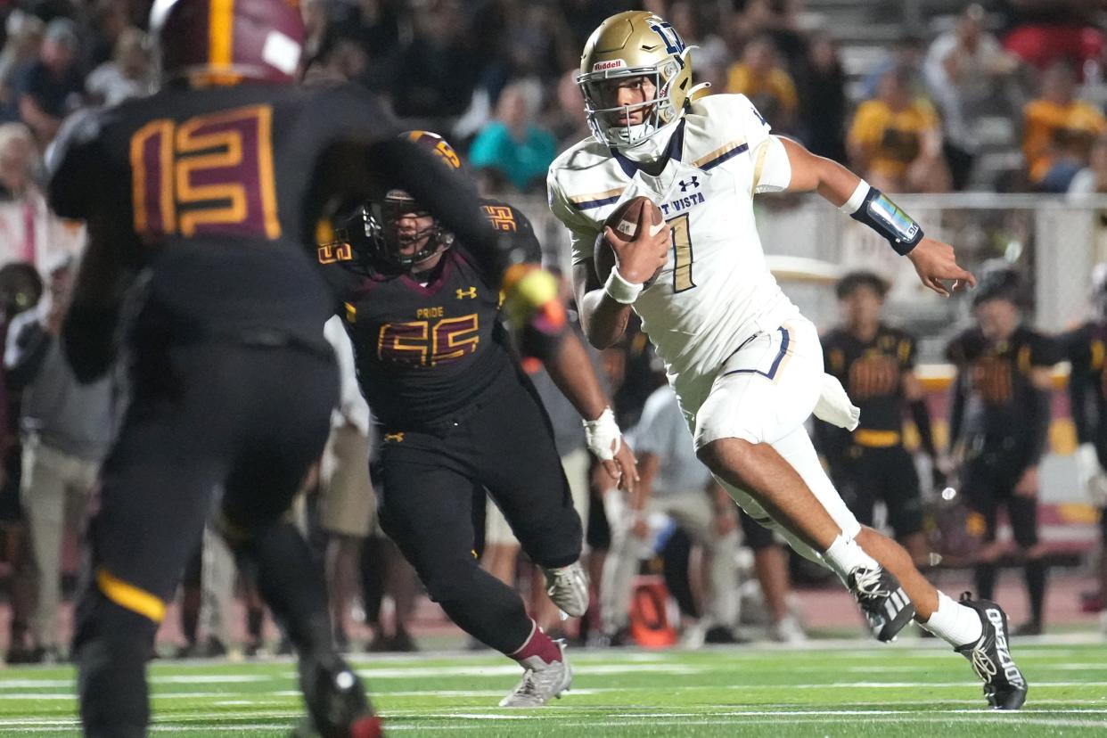
<svg viewBox="0 0 1107 738">
<path fill-rule="evenodd" d="M 313 728 L 376 735 L 331 645 L 318 562 L 284 518 L 338 393 L 314 225 L 331 201 L 403 186 L 489 279 L 511 247 L 498 248 L 472 187 L 396 139 L 366 93 L 291 84 L 292 3 L 159 0 L 151 27 L 161 91 L 71 121 L 50 162 L 53 208 L 90 233 L 62 330 L 77 377 L 105 372 L 130 326 L 132 403 L 93 506 L 74 635 L 85 734 L 145 734 L 155 631 L 221 486 L 223 529 L 297 647 Z M 549 299 L 552 281 L 528 273 L 508 298 Z"/>
</svg>

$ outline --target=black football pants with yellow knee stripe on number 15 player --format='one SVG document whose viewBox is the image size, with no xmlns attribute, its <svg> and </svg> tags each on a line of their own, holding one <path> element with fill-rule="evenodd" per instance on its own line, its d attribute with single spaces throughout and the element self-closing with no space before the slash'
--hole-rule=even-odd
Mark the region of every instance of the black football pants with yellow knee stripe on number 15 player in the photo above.
<svg viewBox="0 0 1107 738">
<path fill-rule="evenodd" d="M 236 552 L 301 651 L 330 648 L 321 569 L 282 520 L 319 458 L 338 398 L 333 356 L 290 346 L 149 341 L 101 472 L 74 654 L 89 736 L 130 738 L 148 720 L 154 635 L 223 487 Z"/>
</svg>

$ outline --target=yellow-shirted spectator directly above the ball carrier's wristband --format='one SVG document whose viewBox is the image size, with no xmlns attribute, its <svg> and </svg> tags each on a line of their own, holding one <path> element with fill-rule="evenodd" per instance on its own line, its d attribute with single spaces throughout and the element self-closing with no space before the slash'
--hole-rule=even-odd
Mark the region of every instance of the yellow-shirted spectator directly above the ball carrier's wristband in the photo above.
<svg viewBox="0 0 1107 738">
<path fill-rule="evenodd" d="M 861 103 L 847 138 L 853 168 L 890 193 L 944 193 L 950 174 L 942 158 L 941 124 L 925 100 L 911 96 L 911 71 L 889 70 L 877 96 Z"/>
</svg>

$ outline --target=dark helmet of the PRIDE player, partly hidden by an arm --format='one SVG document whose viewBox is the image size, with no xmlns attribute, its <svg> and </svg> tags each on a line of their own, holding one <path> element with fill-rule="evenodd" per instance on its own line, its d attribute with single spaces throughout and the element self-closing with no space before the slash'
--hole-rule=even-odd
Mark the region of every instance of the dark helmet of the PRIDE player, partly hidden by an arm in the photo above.
<svg viewBox="0 0 1107 738">
<path fill-rule="evenodd" d="M 438 134 L 407 131 L 400 134 L 400 137 L 427 148 L 451 169 L 462 168 L 457 152 Z M 401 229 L 400 220 L 405 217 L 430 218 L 430 225 L 415 230 Z M 374 261 L 405 270 L 417 267 L 454 243 L 454 235 L 445 230 L 437 218 L 432 217 L 426 208 L 402 189 L 390 189 L 383 199 L 370 200 L 362 208 L 360 228 L 356 224 L 351 224 L 348 228 L 353 235 L 351 242 L 355 248 L 361 240 L 358 238 L 359 230 L 364 233 L 364 242 Z M 417 245 L 414 250 L 413 245 Z"/>
</svg>

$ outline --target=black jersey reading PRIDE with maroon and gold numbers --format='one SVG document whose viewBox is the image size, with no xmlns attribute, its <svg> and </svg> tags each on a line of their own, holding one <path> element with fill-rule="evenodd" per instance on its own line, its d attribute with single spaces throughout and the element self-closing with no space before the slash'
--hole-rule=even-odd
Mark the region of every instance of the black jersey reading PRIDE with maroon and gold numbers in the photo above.
<svg viewBox="0 0 1107 738">
<path fill-rule="evenodd" d="M 526 216 L 493 200 L 484 200 L 483 209 L 494 228 L 539 260 Z M 353 222 L 346 231 L 358 227 Z M 362 393 L 386 430 L 418 430 L 464 416 L 497 385 L 519 381 L 499 319 L 498 278 L 464 243 L 455 241 L 443 253 L 425 284 L 386 264 L 363 273 L 354 256 L 342 243 L 319 250 L 354 346 Z"/>
</svg>

